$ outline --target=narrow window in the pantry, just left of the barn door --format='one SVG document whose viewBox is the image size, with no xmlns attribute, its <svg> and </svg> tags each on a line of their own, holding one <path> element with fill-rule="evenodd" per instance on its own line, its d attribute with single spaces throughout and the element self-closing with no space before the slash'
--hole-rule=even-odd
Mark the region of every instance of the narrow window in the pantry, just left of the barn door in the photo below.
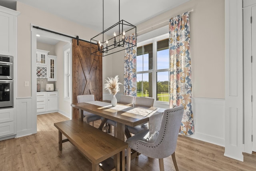
<svg viewBox="0 0 256 171">
<path fill-rule="evenodd" d="M 70 48 L 64 51 L 64 97 L 70 98 Z"/>
</svg>

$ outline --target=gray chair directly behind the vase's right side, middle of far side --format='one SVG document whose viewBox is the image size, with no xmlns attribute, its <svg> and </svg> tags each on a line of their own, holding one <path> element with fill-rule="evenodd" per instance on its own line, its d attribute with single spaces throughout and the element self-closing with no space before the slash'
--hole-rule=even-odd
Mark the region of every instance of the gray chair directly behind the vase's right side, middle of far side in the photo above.
<svg viewBox="0 0 256 171">
<path fill-rule="evenodd" d="M 134 100 L 134 96 L 132 95 L 121 95 L 119 102 L 124 104 L 133 104 L 133 100 Z M 101 118 L 101 119 L 103 120 L 104 118 Z M 112 132 L 111 125 L 113 125 L 114 127 L 117 127 L 116 121 L 113 121 L 111 119 L 107 119 L 106 124 L 108 125 L 108 133 Z M 114 129 L 114 136 L 116 136 L 115 129 Z"/>
</svg>

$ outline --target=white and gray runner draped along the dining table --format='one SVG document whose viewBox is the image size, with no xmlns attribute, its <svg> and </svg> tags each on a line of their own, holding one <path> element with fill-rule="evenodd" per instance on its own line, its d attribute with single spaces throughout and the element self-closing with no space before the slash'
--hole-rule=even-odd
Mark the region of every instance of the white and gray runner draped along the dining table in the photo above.
<svg viewBox="0 0 256 171">
<path fill-rule="evenodd" d="M 125 111 L 129 113 L 134 113 L 136 115 L 142 115 L 142 116 L 147 116 L 149 117 L 149 135 L 148 139 L 150 139 L 151 136 L 154 134 L 157 134 L 160 125 L 161 125 L 161 120 L 162 120 L 162 112 L 156 111 L 155 110 L 149 110 L 149 109 L 144 109 L 143 107 L 132 107 L 132 106 L 126 106 L 126 105 L 116 105 L 112 106 L 111 103 L 103 102 L 103 101 L 86 101 L 85 103 L 90 103 L 93 105 L 98 105 L 101 107 L 106 107 L 110 109 L 115 109 L 118 111 Z"/>
</svg>

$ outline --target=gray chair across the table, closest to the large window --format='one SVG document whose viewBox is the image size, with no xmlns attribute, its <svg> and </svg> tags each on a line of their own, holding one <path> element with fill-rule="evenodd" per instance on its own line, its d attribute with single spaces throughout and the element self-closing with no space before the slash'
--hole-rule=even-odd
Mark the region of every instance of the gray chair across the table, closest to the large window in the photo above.
<svg viewBox="0 0 256 171">
<path fill-rule="evenodd" d="M 136 97 L 135 105 L 152 107 L 154 105 L 154 100 L 155 99 L 152 97 Z M 130 133 L 137 134 L 148 129 L 148 122 L 137 125 L 135 127 L 127 126 L 127 129 Z M 130 137 L 130 135 L 126 135 L 126 137 Z"/>
</svg>

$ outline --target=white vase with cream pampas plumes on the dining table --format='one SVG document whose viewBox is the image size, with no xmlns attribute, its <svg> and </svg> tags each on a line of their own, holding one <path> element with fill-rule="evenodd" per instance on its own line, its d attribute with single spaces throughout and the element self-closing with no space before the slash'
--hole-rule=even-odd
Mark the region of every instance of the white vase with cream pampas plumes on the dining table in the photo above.
<svg viewBox="0 0 256 171">
<path fill-rule="evenodd" d="M 110 94 L 113 95 L 112 100 L 111 100 L 111 105 L 116 106 L 117 100 L 116 100 L 116 93 L 120 91 L 119 85 L 122 83 L 118 82 L 119 78 L 118 76 L 110 77 L 106 81 L 106 84 L 104 84 L 104 89 L 108 90 Z"/>
</svg>

